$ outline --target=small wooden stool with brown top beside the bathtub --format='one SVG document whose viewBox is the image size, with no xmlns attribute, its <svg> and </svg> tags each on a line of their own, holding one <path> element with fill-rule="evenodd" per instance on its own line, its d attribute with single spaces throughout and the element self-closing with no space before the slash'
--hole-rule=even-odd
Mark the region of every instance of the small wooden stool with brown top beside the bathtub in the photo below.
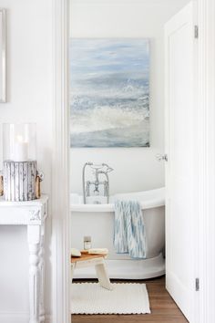
<svg viewBox="0 0 215 323">
<path fill-rule="evenodd" d="M 89 255 L 81 253 L 80 257 L 71 257 L 71 276 L 73 279 L 75 268 L 83 268 L 88 266 L 95 266 L 97 272 L 97 279 L 101 287 L 112 289 L 104 258 L 106 255 Z"/>
</svg>

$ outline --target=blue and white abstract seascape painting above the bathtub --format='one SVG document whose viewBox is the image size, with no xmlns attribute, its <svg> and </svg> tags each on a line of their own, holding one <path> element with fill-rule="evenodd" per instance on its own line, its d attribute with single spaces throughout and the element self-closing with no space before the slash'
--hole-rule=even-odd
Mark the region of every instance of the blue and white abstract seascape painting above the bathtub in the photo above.
<svg viewBox="0 0 215 323">
<path fill-rule="evenodd" d="M 72 147 L 149 146 L 149 40 L 70 39 Z"/>
</svg>

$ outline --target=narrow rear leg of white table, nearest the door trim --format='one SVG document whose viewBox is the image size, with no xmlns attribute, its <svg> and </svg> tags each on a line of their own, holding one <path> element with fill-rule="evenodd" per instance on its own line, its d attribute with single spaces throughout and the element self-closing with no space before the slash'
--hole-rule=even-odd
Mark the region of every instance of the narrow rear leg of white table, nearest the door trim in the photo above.
<svg viewBox="0 0 215 323">
<path fill-rule="evenodd" d="M 45 322 L 44 290 L 45 290 L 45 224 L 41 226 L 39 270 L 40 270 L 40 297 L 39 297 L 39 321 Z"/>
</svg>

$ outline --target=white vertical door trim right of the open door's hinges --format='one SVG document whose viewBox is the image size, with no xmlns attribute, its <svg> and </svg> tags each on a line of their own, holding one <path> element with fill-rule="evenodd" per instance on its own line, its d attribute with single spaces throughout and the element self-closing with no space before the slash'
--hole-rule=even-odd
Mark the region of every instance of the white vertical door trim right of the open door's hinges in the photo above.
<svg viewBox="0 0 215 323">
<path fill-rule="evenodd" d="M 199 0 L 200 323 L 215 322 L 215 2 Z"/>
</svg>

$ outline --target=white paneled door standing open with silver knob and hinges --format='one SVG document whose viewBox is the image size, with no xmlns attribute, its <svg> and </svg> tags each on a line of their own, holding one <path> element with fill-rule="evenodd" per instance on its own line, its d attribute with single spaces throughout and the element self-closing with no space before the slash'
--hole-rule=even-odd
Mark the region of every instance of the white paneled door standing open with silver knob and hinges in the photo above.
<svg viewBox="0 0 215 323">
<path fill-rule="evenodd" d="M 196 293 L 195 17 L 195 4 L 189 3 L 165 26 L 166 285 L 189 322 Z"/>
</svg>

